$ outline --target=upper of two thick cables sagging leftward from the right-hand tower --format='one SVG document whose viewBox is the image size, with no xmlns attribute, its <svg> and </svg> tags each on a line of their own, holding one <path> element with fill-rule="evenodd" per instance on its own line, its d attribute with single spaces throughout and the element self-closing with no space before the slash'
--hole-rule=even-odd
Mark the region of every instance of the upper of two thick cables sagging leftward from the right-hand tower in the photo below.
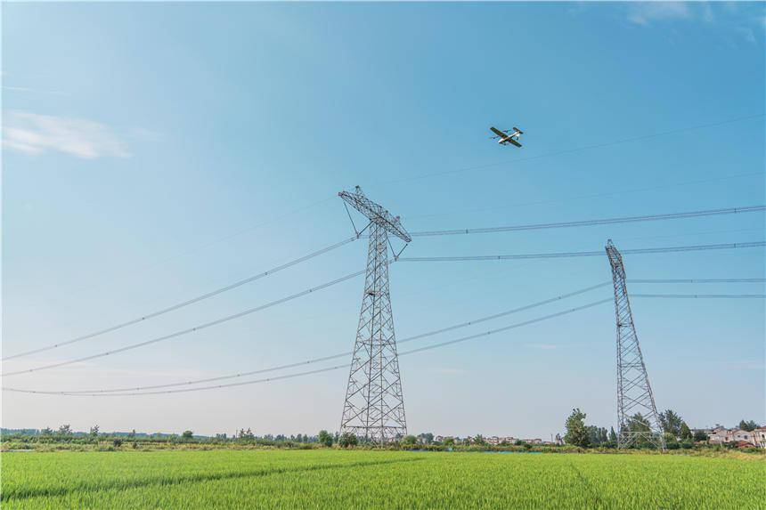
<svg viewBox="0 0 766 510">
<path fill-rule="evenodd" d="M 432 331 L 428 331 L 427 333 L 421 333 L 420 335 L 410 336 L 410 337 L 398 340 L 397 343 L 398 344 L 404 344 L 404 343 L 407 343 L 407 342 L 412 342 L 414 340 L 420 340 L 420 339 L 426 338 L 428 336 L 439 335 L 439 334 L 446 333 L 448 331 L 452 331 L 452 330 L 455 330 L 455 329 L 466 328 L 468 326 L 473 326 L 473 325 L 479 324 L 481 322 L 485 322 L 487 320 L 499 319 L 501 317 L 505 317 L 505 316 L 510 315 L 512 313 L 524 312 L 526 310 L 531 310 L 533 308 L 536 308 L 538 306 L 542 306 L 544 304 L 555 303 L 555 302 L 560 301 L 562 299 L 566 299 L 568 297 L 573 297 L 574 295 L 581 295 L 581 294 L 584 294 L 584 293 L 589 292 L 591 290 L 595 290 L 595 289 L 600 288 L 600 287 L 605 287 L 609 283 L 610 282 L 608 282 L 608 281 L 607 282 L 603 282 L 603 283 L 599 283 L 599 284 L 593 285 L 591 287 L 584 287 L 584 288 L 575 290 L 574 292 L 569 292 L 569 293 L 566 293 L 566 294 L 562 294 L 562 295 L 557 295 L 555 297 L 551 297 L 550 299 L 545 299 L 543 301 L 538 301 L 537 303 L 526 304 L 526 305 L 518 307 L 518 308 L 514 308 L 514 309 L 507 310 L 507 311 L 500 312 L 500 313 L 495 313 L 493 315 L 488 315 L 488 316 L 485 316 L 485 317 L 481 317 L 479 319 L 474 319 L 474 320 L 469 320 L 469 321 L 466 321 L 466 322 L 461 322 L 460 324 L 454 324 L 454 325 L 449 326 L 447 328 L 435 329 L 435 330 L 432 330 Z M 112 389 L 108 389 L 108 390 L 79 390 L 79 391 L 72 391 L 72 392 L 67 392 L 67 393 L 143 392 L 143 391 L 146 391 L 146 390 L 158 390 L 160 388 L 171 388 L 171 387 L 174 387 L 174 386 L 199 385 L 199 384 L 204 384 L 204 383 L 213 383 L 213 382 L 216 382 L 216 381 L 224 381 L 226 379 L 235 379 L 235 378 L 244 377 L 244 376 L 255 376 L 257 374 L 264 374 L 264 373 L 267 373 L 267 372 L 274 372 L 274 371 L 277 371 L 277 370 L 283 370 L 285 368 L 302 367 L 302 366 L 318 363 L 318 362 L 321 362 L 321 361 L 329 361 L 329 360 L 335 360 L 335 359 L 338 359 L 338 358 L 344 358 L 346 356 L 350 356 L 351 354 L 353 354 L 353 352 L 339 352 L 338 354 L 331 354 L 330 356 L 322 356 L 320 358 L 314 358 L 314 359 L 311 359 L 311 360 L 297 361 L 295 363 L 289 363 L 289 364 L 286 364 L 286 365 L 279 365 L 279 366 L 276 366 L 276 367 L 258 368 L 257 370 L 250 370 L 248 372 L 239 372 L 237 374 L 232 374 L 232 375 L 228 375 L 228 376 L 216 376 L 216 377 L 208 377 L 208 378 L 204 378 L 204 379 L 194 379 L 194 380 L 191 380 L 191 381 L 182 381 L 180 383 L 167 383 L 167 384 L 164 384 L 164 385 L 129 386 L 129 387 L 123 387 L 123 388 L 112 388 Z"/>
</svg>

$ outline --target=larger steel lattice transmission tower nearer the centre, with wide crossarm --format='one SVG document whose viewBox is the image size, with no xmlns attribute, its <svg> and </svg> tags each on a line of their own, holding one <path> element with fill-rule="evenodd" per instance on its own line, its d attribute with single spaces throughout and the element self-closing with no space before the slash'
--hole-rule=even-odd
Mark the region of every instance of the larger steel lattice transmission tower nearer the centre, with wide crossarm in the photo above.
<svg viewBox="0 0 766 510">
<path fill-rule="evenodd" d="M 390 215 L 365 197 L 359 186 L 353 193 L 341 191 L 338 196 L 370 220 L 363 229 L 370 229 L 367 275 L 340 432 L 354 433 L 382 444 L 407 433 L 394 317 L 388 294 L 388 234 L 407 243 L 412 238 L 398 216 Z M 357 232 L 357 236 L 363 231 Z"/>
</svg>

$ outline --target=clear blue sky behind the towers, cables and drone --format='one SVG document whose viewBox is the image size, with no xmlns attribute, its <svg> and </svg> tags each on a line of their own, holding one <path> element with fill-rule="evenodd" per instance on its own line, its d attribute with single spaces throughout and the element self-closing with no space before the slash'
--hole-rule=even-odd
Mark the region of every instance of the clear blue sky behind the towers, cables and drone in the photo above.
<svg viewBox="0 0 766 510">
<path fill-rule="evenodd" d="M 762 4 L 4 4 L 4 354 L 78 336 L 353 233 L 355 184 L 410 231 L 762 204 Z M 524 148 L 489 125 L 517 125 Z M 543 156 L 542 158 L 531 158 Z M 522 160 L 522 158 L 529 158 Z M 450 172 L 453 170 L 459 172 Z M 445 172 L 450 172 L 446 173 Z M 436 174 L 436 175 L 431 175 Z M 423 177 L 425 176 L 425 177 Z M 494 255 L 761 240 L 761 214 L 415 239 Z M 363 241 L 162 319 L 4 363 L 29 368 L 214 320 L 364 267 Z M 626 255 L 629 278 L 762 278 L 762 249 Z M 609 279 L 606 256 L 396 263 L 406 337 Z M 114 357 L 6 377 L 151 385 L 350 350 L 354 279 Z M 763 293 L 762 285 L 632 288 Z M 433 342 L 609 297 L 608 288 Z M 636 299 L 660 409 L 764 418 L 760 300 Z M 430 342 L 424 341 L 423 344 Z M 403 357 L 412 433 L 547 438 L 615 422 L 611 304 Z M 115 399 L 5 393 L 3 425 L 232 433 L 338 428 L 346 370 Z"/>
</svg>

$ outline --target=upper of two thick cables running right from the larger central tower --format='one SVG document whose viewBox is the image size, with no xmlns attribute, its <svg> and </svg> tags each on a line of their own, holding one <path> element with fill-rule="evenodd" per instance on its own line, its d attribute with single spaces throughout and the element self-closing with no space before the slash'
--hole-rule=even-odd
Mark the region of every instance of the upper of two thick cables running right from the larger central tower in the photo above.
<svg viewBox="0 0 766 510">
<path fill-rule="evenodd" d="M 563 223 L 536 223 L 531 225 L 511 225 L 504 227 L 487 227 L 479 229 L 458 229 L 451 231 L 420 231 L 412 232 L 413 237 L 420 236 L 452 236 L 457 234 L 485 234 L 493 232 L 511 232 L 511 231 L 540 231 L 545 229 L 562 229 L 570 227 L 583 227 L 594 225 L 611 225 L 615 223 L 640 223 L 656 222 L 662 220 L 678 220 L 682 218 L 697 218 L 701 216 L 714 215 L 737 215 L 739 213 L 754 213 L 766 210 L 766 206 L 745 206 L 729 207 L 725 209 L 707 209 L 703 211 L 689 211 L 686 213 L 668 213 L 664 215 L 641 215 L 641 216 L 623 216 L 620 218 L 600 218 L 595 220 L 581 220 L 577 222 Z"/>
</svg>

